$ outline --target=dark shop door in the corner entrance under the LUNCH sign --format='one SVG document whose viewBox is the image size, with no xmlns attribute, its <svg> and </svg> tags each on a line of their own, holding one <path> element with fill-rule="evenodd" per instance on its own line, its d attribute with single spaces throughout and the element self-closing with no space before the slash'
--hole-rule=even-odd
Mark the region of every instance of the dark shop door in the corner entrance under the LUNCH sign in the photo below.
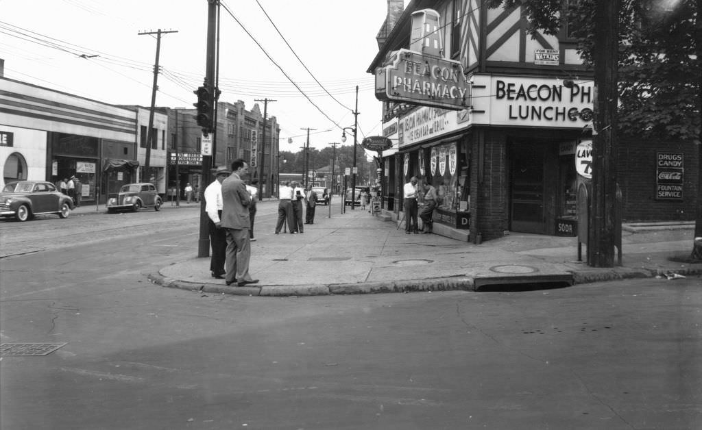
<svg viewBox="0 0 702 430">
<path fill-rule="evenodd" d="M 545 147 L 510 148 L 510 230 L 545 234 L 543 166 Z"/>
</svg>

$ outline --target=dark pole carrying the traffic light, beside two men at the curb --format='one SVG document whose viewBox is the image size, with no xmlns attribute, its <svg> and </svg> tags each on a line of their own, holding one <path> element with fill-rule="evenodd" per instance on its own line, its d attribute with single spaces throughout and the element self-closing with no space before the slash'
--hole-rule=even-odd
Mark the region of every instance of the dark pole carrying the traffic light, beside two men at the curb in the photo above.
<svg viewBox="0 0 702 430">
<path fill-rule="evenodd" d="M 195 93 L 198 95 L 197 100 L 197 124 L 202 127 L 202 134 L 208 136 L 212 133 L 216 123 L 214 119 L 214 102 L 215 92 L 215 65 L 217 59 L 216 36 L 217 36 L 217 16 L 219 12 L 218 0 L 207 0 L 207 51 L 205 63 L 205 79 L 203 86 L 197 89 Z M 210 169 L 212 166 L 212 155 L 202 155 L 202 172 L 199 184 L 199 192 L 204 190 L 204 187 L 210 184 L 211 175 Z M 197 244 L 197 256 L 209 257 L 210 255 L 210 236 L 207 223 L 208 217 L 205 211 L 205 199 L 200 199 L 200 235 Z"/>
</svg>

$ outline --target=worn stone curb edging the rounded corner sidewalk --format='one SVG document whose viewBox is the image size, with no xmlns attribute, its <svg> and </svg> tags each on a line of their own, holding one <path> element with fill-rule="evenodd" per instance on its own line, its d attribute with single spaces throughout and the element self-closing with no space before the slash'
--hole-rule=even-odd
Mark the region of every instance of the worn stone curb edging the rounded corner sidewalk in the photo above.
<svg viewBox="0 0 702 430">
<path fill-rule="evenodd" d="M 665 276 L 670 270 L 661 269 L 630 269 L 616 267 L 614 269 L 590 269 L 570 271 L 573 283 L 569 286 L 585 283 L 621 281 L 623 279 L 656 278 Z M 687 268 L 676 270 L 675 273 L 683 276 L 700 276 L 702 268 Z M 161 274 L 147 276 L 154 284 L 181 290 L 200 291 L 202 293 L 248 295 L 260 297 L 298 297 L 318 295 L 358 295 L 381 293 L 416 293 L 432 291 L 475 291 L 475 279 L 470 276 L 452 276 L 449 278 L 426 278 L 406 281 L 393 281 L 390 283 L 333 283 L 312 285 L 264 285 L 260 287 L 229 287 L 213 283 L 193 283 L 168 278 Z M 538 277 L 538 276 L 537 276 Z M 524 279 L 524 276 L 519 277 Z M 523 283 L 523 282 L 521 282 Z"/>
</svg>

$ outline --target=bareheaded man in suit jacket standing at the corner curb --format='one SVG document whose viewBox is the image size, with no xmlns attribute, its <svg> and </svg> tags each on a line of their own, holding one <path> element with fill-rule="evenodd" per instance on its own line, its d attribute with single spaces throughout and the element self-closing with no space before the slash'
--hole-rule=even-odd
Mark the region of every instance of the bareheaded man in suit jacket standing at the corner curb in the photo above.
<svg viewBox="0 0 702 430">
<path fill-rule="evenodd" d="M 249 274 L 251 260 L 251 196 L 241 176 L 249 173 L 249 165 L 242 159 L 232 161 L 232 174 L 222 182 L 222 227 L 227 229 L 227 262 L 225 282 L 243 287 L 257 283 Z"/>
</svg>

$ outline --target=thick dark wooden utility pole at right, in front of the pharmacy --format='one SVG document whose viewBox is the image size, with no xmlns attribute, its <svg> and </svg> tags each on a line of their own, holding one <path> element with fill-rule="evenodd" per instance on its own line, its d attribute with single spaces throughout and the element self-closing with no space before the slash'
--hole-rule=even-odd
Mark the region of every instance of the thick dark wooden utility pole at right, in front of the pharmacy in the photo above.
<svg viewBox="0 0 702 430">
<path fill-rule="evenodd" d="M 620 0 L 595 6 L 595 126 L 592 132 L 592 198 L 588 225 L 588 265 L 614 267 L 617 187 L 617 67 Z M 621 233 L 620 233 L 621 234 Z"/>
</svg>

